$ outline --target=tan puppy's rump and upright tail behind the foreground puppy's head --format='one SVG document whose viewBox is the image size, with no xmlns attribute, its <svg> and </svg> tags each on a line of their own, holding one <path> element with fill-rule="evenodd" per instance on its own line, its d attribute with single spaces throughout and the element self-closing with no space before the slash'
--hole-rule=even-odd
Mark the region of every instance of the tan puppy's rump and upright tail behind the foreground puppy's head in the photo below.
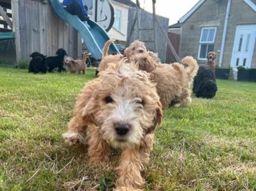
<svg viewBox="0 0 256 191">
<path fill-rule="evenodd" d="M 115 54 L 115 55 L 108 54 L 108 49 L 109 49 L 111 43 L 113 43 L 113 40 L 111 40 L 111 39 L 106 41 L 106 43 L 102 49 L 102 52 L 103 52 L 102 60 L 99 63 L 99 67 L 97 69 L 98 72 L 97 72 L 96 76 L 98 75 L 99 72 L 102 72 L 105 69 L 107 69 L 109 63 L 119 63 L 119 61 L 124 58 L 124 56 L 122 54 Z"/>
</svg>

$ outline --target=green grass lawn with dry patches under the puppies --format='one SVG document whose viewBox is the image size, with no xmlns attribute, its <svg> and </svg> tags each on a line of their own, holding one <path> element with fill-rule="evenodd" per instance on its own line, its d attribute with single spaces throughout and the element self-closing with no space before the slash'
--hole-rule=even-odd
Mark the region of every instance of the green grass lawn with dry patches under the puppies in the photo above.
<svg viewBox="0 0 256 191">
<path fill-rule="evenodd" d="M 95 70 L 76 76 L 0 67 L 0 190 L 111 190 L 117 154 L 88 165 L 87 148 L 62 139 L 75 97 Z M 218 80 L 213 100 L 164 111 L 146 191 L 255 190 L 256 83 Z"/>
</svg>

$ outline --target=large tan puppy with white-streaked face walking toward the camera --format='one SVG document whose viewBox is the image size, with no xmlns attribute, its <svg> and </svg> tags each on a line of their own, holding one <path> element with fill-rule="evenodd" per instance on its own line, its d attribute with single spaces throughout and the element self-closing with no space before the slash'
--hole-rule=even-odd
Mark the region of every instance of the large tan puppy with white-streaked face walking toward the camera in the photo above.
<svg viewBox="0 0 256 191">
<path fill-rule="evenodd" d="M 115 191 L 142 189 L 140 171 L 149 161 L 154 128 L 162 121 L 155 86 L 146 72 L 123 59 L 110 64 L 77 97 L 63 137 L 70 144 L 85 144 L 88 129 L 88 155 L 93 164 L 108 161 L 110 148 L 122 150 Z"/>
</svg>

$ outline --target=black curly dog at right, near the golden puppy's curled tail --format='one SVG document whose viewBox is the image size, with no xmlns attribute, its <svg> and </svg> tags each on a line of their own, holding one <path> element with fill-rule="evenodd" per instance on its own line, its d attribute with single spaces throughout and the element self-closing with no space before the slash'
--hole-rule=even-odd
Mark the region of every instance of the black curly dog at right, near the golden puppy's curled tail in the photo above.
<svg viewBox="0 0 256 191">
<path fill-rule="evenodd" d="M 194 78 L 193 93 L 196 97 L 213 98 L 218 90 L 214 72 L 209 66 L 200 66 Z"/>
</svg>

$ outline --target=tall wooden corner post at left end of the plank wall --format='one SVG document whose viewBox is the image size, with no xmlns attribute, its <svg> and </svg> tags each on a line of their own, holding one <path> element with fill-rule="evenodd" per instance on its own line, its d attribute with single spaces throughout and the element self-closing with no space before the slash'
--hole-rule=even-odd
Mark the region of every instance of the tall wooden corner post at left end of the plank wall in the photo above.
<svg viewBox="0 0 256 191">
<path fill-rule="evenodd" d="M 13 32 L 15 32 L 15 48 L 17 65 L 21 59 L 20 56 L 20 24 L 19 24 L 19 0 L 11 0 L 11 11 L 13 19 Z"/>
</svg>

